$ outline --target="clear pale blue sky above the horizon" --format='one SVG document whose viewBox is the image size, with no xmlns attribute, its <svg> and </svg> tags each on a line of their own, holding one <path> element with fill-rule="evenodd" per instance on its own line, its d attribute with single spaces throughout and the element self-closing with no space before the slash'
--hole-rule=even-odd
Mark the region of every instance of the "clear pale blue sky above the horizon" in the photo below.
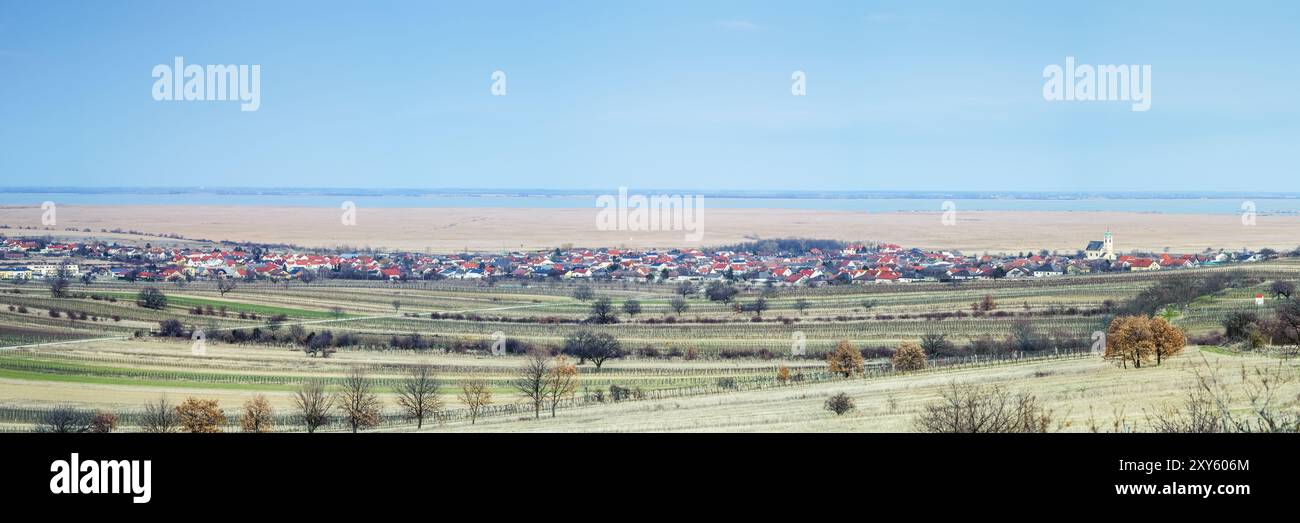
<svg viewBox="0 0 1300 523">
<path fill-rule="evenodd" d="M 370 4 L 5 1 L 0 185 L 1284 191 L 1300 174 L 1294 1 Z M 260 109 L 155 101 L 151 70 L 176 56 L 261 65 Z M 1044 100 L 1066 56 L 1149 64 L 1150 111 Z"/>
</svg>

